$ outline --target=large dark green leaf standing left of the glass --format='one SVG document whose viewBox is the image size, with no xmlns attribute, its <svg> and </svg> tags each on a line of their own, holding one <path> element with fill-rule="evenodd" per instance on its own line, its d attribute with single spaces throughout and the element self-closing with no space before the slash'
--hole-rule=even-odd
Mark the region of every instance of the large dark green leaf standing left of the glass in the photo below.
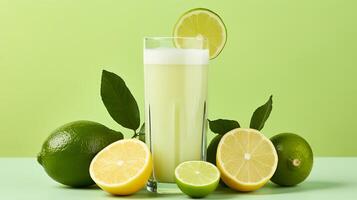
<svg viewBox="0 0 357 200">
<path fill-rule="evenodd" d="M 100 95 L 110 116 L 118 124 L 134 131 L 139 128 L 138 104 L 122 78 L 103 70 Z"/>
</svg>

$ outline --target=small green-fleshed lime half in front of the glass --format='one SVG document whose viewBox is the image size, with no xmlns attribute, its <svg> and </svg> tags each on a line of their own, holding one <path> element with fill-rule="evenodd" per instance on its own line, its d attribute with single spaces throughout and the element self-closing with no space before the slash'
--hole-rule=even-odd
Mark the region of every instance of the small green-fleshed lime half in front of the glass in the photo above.
<svg viewBox="0 0 357 200">
<path fill-rule="evenodd" d="M 175 179 L 180 190 L 190 197 L 204 197 L 213 192 L 219 183 L 216 166 L 204 161 L 186 161 L 175 169 Z"/>
</svg>

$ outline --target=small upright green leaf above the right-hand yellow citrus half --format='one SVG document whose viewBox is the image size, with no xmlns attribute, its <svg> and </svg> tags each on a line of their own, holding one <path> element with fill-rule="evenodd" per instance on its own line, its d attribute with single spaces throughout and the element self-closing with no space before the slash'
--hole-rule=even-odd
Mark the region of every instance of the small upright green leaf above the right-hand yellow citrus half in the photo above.
<svg viewBox="0 0 357 200">
<path fill-rule="evenodd" d="M 252 118 L 250 119 L 250 128 L 254 128 L 259 131 L 262 130 L 272 109 L 273 95 L 270 95 L 269 100 L 254 111 Z"/>
</svg>

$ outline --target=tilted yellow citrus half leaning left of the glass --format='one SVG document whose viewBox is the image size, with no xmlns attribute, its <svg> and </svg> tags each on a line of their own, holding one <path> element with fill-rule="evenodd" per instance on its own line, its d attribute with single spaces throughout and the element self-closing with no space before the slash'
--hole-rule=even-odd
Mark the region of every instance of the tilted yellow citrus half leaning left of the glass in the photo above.
<svg viewBox="0 0 357 200">
<path fill-rule="evenodd" d="M 146 144 L 137 139 L 110 144 L 94 157 L 89 167 L 94 182 L 115 195 L 129 195 L 140 190 L 151 172 L 151 153 Z"/>
</svg>

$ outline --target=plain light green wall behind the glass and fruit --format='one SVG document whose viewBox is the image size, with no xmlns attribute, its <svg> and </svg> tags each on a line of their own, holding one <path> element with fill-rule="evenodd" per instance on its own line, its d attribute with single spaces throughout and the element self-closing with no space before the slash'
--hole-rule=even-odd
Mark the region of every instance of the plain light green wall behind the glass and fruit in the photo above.
<svg viewBox="0 0 357 200">
<path fill-rule="evenodd" d="M 273 94 L 264 134 L 296 132 L 315 155 L 357 156 L 353 0 L 0 0 L 0 156 L 34 156 L 54 128 L 78 119 L 131 135 L 101 102 L 101 70 L 126 80 L 143 116 L 142 38 L 171 35 L 195 7 L 228 29 L 210 63 L 211 119 L 247 126 Z"/>
</svg>

